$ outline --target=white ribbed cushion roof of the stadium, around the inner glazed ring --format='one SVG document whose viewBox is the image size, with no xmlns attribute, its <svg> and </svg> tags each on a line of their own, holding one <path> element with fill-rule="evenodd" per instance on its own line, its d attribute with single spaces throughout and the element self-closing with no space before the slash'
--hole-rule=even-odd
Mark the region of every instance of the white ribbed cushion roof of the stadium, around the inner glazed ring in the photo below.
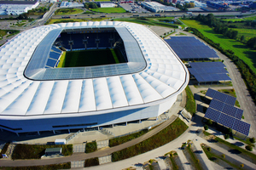
<svg viewBox="0 0 256 170">
<path fill-rule="evenodd" d="M 66 77 L 63 80 L 44 79 L 41 76 L 54 69 L 40 70 L 41 67 L 33 65 L 32 76 L 24 76 L 39 43 L 51 32 L 84 27 L 114 27 L 117 31 L 125 28 L 136 40 L 140 49 L 136 53 L 143 56 L 145 65 L 140 67 L 141 60 L 131 62 L 128 57 L 125 65 L 138 63 L 139 71 L 131 69 L 110 76 Z M 128 50 L 126 45 L 125 50 Z M 42 64 L 44 60 L 37 62 Z M 44 66 L 45 62 L 42 68 Z M 21 32 L 0 48 L 0 119 L 92 115 L 147 107 L 177 96 L 188 82 L 189 71 L 182 61 L 165 41 L 145 26 L 105 21 L 40 26 Z"/>
</svg>

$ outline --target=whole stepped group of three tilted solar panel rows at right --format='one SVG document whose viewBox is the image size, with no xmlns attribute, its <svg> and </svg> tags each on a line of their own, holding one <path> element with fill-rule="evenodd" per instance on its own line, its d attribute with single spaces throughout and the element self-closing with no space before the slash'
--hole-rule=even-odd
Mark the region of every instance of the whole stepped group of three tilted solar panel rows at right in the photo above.
<svg viewBox="0 0 256 170">
<path fill-rule="evenodd" d="M 230 127 L 236 130 L 236 132 L 245 135 L 249 134 L 251 125 L 241 121 L 243 111 L 234 107 L 236 98 L 220 93 L 212 88 L 207 90 L 206 96 L 213 98 L 205 114 L 206 118 L 218 122 L 225 127 Z"/>
</svg>

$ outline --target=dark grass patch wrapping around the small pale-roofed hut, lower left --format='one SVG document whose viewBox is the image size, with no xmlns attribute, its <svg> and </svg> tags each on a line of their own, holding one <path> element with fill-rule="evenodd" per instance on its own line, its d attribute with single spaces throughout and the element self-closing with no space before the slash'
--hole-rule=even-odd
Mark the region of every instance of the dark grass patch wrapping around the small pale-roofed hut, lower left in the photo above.
<svg viewBox="0 0 256 170">
<path fill-rule="evenodd" d="M 17 144 L 12 155 L 12 159 L 40 159 L 44 156 L 46 148 L 62 148 L 63 156 L 71 156 L 73 154 L 73 144 L 58 145 L 33 145 L 33 144 Z"/>
</svg>

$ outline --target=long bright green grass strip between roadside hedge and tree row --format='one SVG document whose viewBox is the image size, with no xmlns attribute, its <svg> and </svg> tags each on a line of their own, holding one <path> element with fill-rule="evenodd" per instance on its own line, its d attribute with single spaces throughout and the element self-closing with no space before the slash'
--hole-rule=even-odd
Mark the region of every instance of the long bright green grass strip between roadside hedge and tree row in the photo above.
<svg viewBox="0 0 256 170">
<path fill-rule="evenodd" d="M 211 39 L 213 42 L 219 43 L 220 46 L 224 49 L 232 50 L 240 59 L 242 59 L 249 67 L 256 73 L 256 51 L 250 48 L 247 48 L 241 42 L 238 42 L 233 39 L 224 37 L 221 34 L 215 33 L 211 27 L 202 25 L 199 21 L 196 20 L 182 20 L 184 24 L 189 27 L 193 27 L 205 36 Z"/>
</svg>

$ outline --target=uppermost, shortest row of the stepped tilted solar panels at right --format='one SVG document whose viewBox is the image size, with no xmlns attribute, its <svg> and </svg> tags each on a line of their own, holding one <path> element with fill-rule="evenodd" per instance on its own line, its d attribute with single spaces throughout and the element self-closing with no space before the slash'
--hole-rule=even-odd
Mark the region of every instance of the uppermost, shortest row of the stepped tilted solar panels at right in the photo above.
<svg viewBox="0 0 256 170">
<path fill-rule="evenodd" d="M 208 88 L 206 96 L 209 96 L 212 99 L 218 99 L 219 101 L 222 101 L 229 105 L 235 105 L 236 98 L 232 97 L 228 94 L 220 93 L 216 90 L 213 90 L 212 88 Z"/>
</svg>

